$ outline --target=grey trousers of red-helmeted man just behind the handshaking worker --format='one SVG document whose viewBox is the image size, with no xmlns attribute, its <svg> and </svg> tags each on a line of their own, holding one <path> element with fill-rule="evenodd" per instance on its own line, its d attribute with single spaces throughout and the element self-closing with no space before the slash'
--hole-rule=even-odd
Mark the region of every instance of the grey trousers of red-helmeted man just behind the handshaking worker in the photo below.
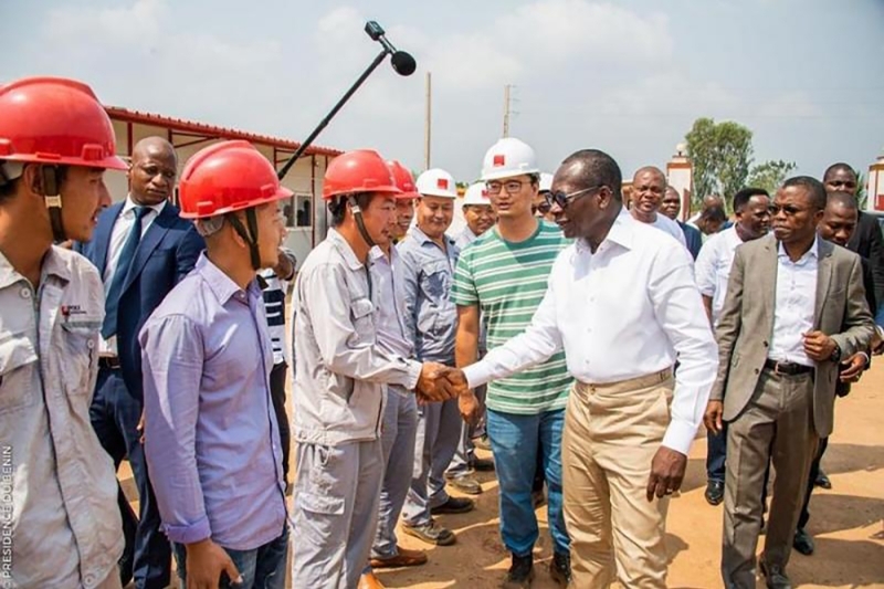
<svg viewBox="0 0 884 589">
<path fill-rule="evenodd" d="M 411 484 L 417 434 L 418 401 L 414 395 L 390 387 L 381 434 L 386 469 L 378 507 L 378 533 L 371 547 L 371 558 L 392 558 L 399 554 L 396 547 L 396 524 Z"/>
</svg>

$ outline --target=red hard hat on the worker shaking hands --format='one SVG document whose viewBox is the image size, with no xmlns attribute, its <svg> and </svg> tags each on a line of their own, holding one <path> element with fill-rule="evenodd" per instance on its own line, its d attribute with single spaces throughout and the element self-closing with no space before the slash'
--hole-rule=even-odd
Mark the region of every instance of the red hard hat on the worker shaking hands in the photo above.
<svg viewBox="0 0 884 589">
<path fill-rule="evenodd" d="M 355 192 L 399 194 L 392 171 L 380 154 L 372 149 L 347 151 L 328 165 L 323 183 L 323 198 L 332 200 Z"/>
</svg>

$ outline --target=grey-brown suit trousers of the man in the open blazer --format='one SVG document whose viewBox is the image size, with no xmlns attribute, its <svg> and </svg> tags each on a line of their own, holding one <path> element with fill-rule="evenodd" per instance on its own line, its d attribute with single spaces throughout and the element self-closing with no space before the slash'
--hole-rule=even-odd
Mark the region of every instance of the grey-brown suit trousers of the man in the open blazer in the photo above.
<svg viewBox="0 0 884 589">
<path fill-rule="evenodd" d="M 765 472 L 774 465 L 774 498 L 764 559 L 786 567 L 819 438 L 813 428 L 810 374 L 764 370 L 746 409 L 727 425 L 722 578 L 725 587 L 755 589 Z"/>
</svg>

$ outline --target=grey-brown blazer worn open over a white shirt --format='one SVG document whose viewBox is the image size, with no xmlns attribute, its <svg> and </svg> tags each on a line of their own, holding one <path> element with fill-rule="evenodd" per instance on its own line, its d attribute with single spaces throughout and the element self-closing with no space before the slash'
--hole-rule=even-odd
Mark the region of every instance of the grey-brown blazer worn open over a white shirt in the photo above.
<svg viewBox="0 0 884 589">
<path fill-rule="evenodd" d="M 770 234 L 737 248 L 725 305 L 718 319 L 718 377 L 709 400 L 724 401 L 724 420 L 737 419 L 755 391 L 774 333 L 779 244 Z M 830 336 L 846 358 L 864 349 L 874 324 L 865 302 L 860 256 L 819 241 L 814 327 Z M 820 438 L 832 431 L 838 364 L 817 364 L 813 425 Z"/>
</svg>

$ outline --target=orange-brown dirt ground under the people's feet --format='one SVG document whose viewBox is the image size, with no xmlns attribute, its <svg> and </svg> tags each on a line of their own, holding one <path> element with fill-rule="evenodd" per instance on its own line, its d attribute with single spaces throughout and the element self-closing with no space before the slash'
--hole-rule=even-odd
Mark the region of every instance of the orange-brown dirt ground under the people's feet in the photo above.
<svg viewBox="0 0 884 589">
<path fill-rule="evenodd" d="M 831 491 L 817 490 L 811 502 L 809 532 L 817 541 L 811 557 L 793 553 L 788 572 L 797 587 L 884 588 L 884 362 L 870 370 L 853 392 L 836 401 L 835 432 L 823 469 Z M 722 587 L 718 566 L 722 543 L 722 507 L 703 498 L 705 490 L 705 437 L 694 444 L 685 484 L 670 506 L 666 541 L 673 588 Z M 125 467 L 125 466 L 124 466 Z M 135 497 L 128 471 L 122 471 L 128 496 Z M 390 588 L 497 587 L 508 566 L 501 544 L 497 519 L 497 482 L 493 473 L 480 473 L 483 494 L 470 514 L 442 516 L 457 535 L 449 547 L 429 547 L 400 534 L 400 544 L 427 549 L 430 561 L 414 569 L 379 571 Z M 556 587 L 546 570 L 551 557 L 545 525 L 546 508 L 538 509 L 541 534 L 536 548 L 539 560 L 536 589 Z M 295 537 L 297 534 L 295 533 Z M 764 538 L 762 538 L 764 540 Z M 758 587 L 764 587 L 759 581 Z"/>
</svg>

